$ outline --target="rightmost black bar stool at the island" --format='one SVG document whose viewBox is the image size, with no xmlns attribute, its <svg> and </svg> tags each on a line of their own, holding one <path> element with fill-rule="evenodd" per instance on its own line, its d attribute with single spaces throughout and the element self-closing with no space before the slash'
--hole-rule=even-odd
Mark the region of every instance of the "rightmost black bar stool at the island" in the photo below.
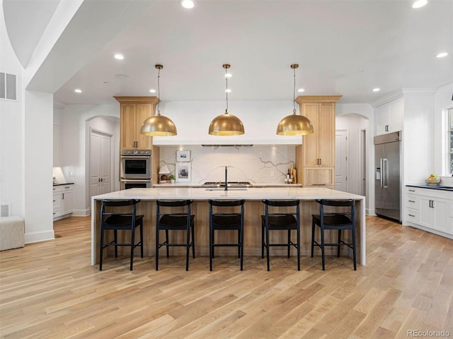
<svg viewBox="0 0 453 339">
<path fill-rule="evenodd" d="M 355 201 L 354 200 L 327 200 L 317 199 L 319 203 L 319 215 L 312 215 L 311 222 L 311 258 L 314 254 L 314 246 L 321 248 L 322 266 L 325 270 L 325 246 L 337 246 L 337 256 L 340 257 L 340 247 L 348 246 L 352 249 L 352 259 L 354 261 L 354 270 L 357 269 L 355 259 Z M 346 211 L 326 211 L 324 206 L 334 206 L 338 208 L 346 208 Z M 321 243 L 318 243 L 314 239 L 315 227 L 318 225 L 321 229 Z M 326 230 L 338 230 L 338 241 L 336 243 L 326 244 L 324 241 Z M 350 230 L 352 232 L 352 242 L 344 242 L 341 239 L 341 231 Z"/>
</svg>

